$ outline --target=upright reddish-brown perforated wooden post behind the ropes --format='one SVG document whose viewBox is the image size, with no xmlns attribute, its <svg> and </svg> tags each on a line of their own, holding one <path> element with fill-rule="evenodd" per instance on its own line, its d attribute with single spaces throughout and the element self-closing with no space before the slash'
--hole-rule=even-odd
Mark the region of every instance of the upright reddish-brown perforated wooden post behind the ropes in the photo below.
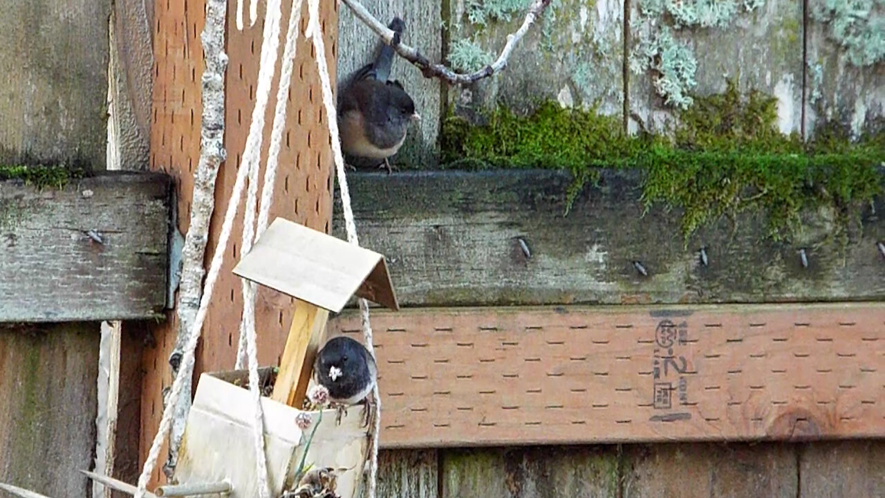
<svg viewBox="0 0 885 498">
<path fill-rule="evenodd" d="M 289 4 L 283 4 L 280 56 L 289 19 Z M 259 19 L 264 19 L 265 5 L 264 2 L 259 3 Z M 203 30 L 204 7 L 204 2 L 199 0 L 156 4 L 150 167 L 170 173 L 177 179 L 179 227 L 182 234 L 188 230 L 190 199 L 200 152 L 200 77 L 204 64 L 200 33 Z M 221 165 L 216 183 L 215 211 L 205 258 L 207 265 L 218 242 L 221 222 L 227 210 L 236 169 L 240 166 L 249 131 L 255 105 L 263 31 L 261 20 L 254 27 L 237 31 L 236 3 L 233 1 L 228 2 L 227 14 L 227 161 Z M 337 4 L 322 2 L 320 18 L 329 50 L 327 58 L 334 88 Z M 302 30 L 306 19 L 305 3 Z M 273 122 L 279 73 L 278 62 L 272 95 L 268 101 L 262 164 L 266 160 L 267 137 Z M 273 221 L 276 216 L 284 216 L 312 229 L 328 230 L 332 214 L 331 148 L 312 43 L 305 41 L 304 37 L 298 42 L 289 102 L 270 220 Z M 264 177 L 263 168 L 260 177 Z M 240 279 L 231 273 L 231 269 L 240 258 L 241 232 L 242 208 L 235 222 L 204 324 L 203 339 L 197 350 L 195 379 L 203 371 L 229 370 L 234 367 L 237 331 L 242 315 L 242 295 Z M 256 315 L 258 362 L 262 365 L 276 364 L 289 331 L 292 301 L 277 292 L 259 288 Z M 163 414 L 162 390 L 171 385 L 173 380 L 169 373 L 168 357 L 175 343 L 178 323 L 174 313 L 169 316 L 170 320 L 166 323 L 153 327 L 150 343 L 155 346 L 147 348 L 143 358 L 145 380 L 142 391 L 142 463 Z M 162 455 L 165 461 L 165 450 Z"/>
</svg>

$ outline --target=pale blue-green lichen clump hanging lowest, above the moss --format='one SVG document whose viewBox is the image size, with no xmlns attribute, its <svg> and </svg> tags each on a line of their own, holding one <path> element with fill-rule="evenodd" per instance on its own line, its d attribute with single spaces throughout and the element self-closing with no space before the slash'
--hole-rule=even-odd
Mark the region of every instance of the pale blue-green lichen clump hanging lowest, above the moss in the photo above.
<svg viewBox="0 0 885 498">
<path fill-rule="evenodd" d="M 697 84 L 697 60 L 691 49 L 673 39 L 666 26 L 657 32 L 643 29 L 641 33 L 628 59 L 630 71 L 634 74 L 657 71 L 654 85 L 665 104 L 687 109 L 694 102 L 689 90 Z"/>
</svg>

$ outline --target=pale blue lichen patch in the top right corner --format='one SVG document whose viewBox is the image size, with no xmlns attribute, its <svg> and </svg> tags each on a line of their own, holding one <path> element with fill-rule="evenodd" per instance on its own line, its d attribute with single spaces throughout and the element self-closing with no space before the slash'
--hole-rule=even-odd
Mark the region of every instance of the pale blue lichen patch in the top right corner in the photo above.
<svg viewBox="0 0 885 498">
<path fill-rule="evenodd" d="M 812 19 L 829 25 L 827 35 L 854 66 L 885 60 L 885 0 L 812 0 Z"/>
</svg>

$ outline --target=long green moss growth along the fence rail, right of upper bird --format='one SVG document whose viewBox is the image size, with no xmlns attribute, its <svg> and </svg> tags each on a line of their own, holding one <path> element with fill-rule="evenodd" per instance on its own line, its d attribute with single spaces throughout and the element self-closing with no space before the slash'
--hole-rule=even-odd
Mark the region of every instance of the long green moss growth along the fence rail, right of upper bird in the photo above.
<svg viewBox="0 0 885 498">
<path fill-rule="evenodd" d="M 778 131 L 773 97 L 742 95 L 729 82 L 724 93 L 695 99 L 678 113 L 672 139 L 625 136 L 617 118 L 553 102 L 530 116 L 499 107 L 478 127 L 450 116 L 441 130 L 442 160 L 466 169 L 566 169 L 575 179 L 569 205 L 600 168 L 638 168 L 645 206 L 680 208 L 686 238 L 746 209 L 766 212 L 772 237 L 790 237 L 804 209 L 832 206 L 848 216 L 885 189 L 885 134 L 851 143 L 840 128 L 823 127 L 804 144 Z"/>
</svg>

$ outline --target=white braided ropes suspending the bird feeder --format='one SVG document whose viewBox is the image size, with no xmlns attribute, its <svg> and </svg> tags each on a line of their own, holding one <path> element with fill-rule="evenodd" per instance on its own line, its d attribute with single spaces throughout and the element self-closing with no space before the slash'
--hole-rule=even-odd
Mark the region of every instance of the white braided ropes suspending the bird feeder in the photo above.
<svg viewBox="0 0 885 498">
<path fill-rule="evenodd" d="M 212 299 L 215 283 L 218 280 L 221 263 L 224 259 L 224 253 L 227 250 L 231 231 L 233 230 L 233 222 L 235 215 L 242 202 L 242 191 L 246 187 L 246 181 L 249 181 L 247 191 L 246 210 L 243 222 L 242 232 L 242 254 L 250 251 L 251 245 L 255 237 L 259 237 L 266 230 L 267 218 L 269 216 L 270 205 L 273 198 L 273 185 L 275 183 L 276 171 L 279 164 L 279 152 L 281 149 L 282 130 L 285 127 L 287 98 L 289 92 L 289 83 L 291 81 L 293 62 L 296 55 L 296 39 L 298 36 L 298 25 L 301 19 L 301 10 L 303 0 L 294 0 L 289 15 L 289 31 L 287 32 L 286 44 L 283 53 L 283 61 L 281 68 L 281 82 L 277 92 L 277 103 L 273 117 L 273 128 L 271 132 L 271 143 L 268 152 L 267 166 L 265 172 L 264 183 L 262 186 L 262 196 L 259 205 L 258 227 L 255 226 L 255 207 L 258 203 L 258 167 L 260 163 L 260 151 L 262 144 L 262 131 L 264 129 L 264 116 L 266 111 L 267 100 L 270 96 L 271 85 L 273 82 L 273 74 L 275 72 L 276 60 L 279 47 L 280 35 L 280 18 L 281 18 L 281 0 L 269 0 L 266 9 L 266 20 L 264 30 L 264 40 L 262 43 L 261 59 L 258 70 L 258 89 L 256 91 L 256 105 L 252 113 L 252 121 L 250 123 L 250 131 L 247 136 L 246 147 L 242 154 L 242 164 L 237 172 L 234 189 L 231 192 L 230 204 L 227 206 L 224 222 L 222 223 L 221 233 L 219 235 L 218 246 L 213 254 L 210 263 L 209 272 L 205 279 L 204 292 L 200 300 L 200 307 L 196 314 L 196 320 L 190 331 L 188 341 L 184 347 L 181 363 L 187 368 L 180 368 L 178 375 L 173 382 L 172 390 L 169 395 L 169 402 L 166 404 L 163 417 L 160 420 L 158 432 L 151 444 L 148 457 L 142 468 L 142 474 L 138 479 L 138 486 L 135 498 L 143 498 L 146 492 L 147 482 L 150 474 L 154 469 L 159 456 L 159 450 L 162 446 L 163 439 L 169 432 L 172 423 L 173 406 L 177 403 L 182 393 L 185 376 L 184 372 L 189 372 L 195 361 L 195 350 L 198 339 L 203 329 L 203 323 L 208 311 L 208 305 Z M 323 90 L 323 104 L 325 105 L 328 115 L 329 134 L 331 136 L 332 149 L 335 159 L 336 173 L 342 191 L 342 206 L 344 208 L 344 219 L 347 230 L 347 238 L 351 244 L 358 245 L 358 236 L 356 223 L 354 222 L 353 211 L 350 206 L 350 191 L 347 186 L 346 172 L 341 152 L 341 144 L 338 136 L 338 126 L 335 114 L 335 103 L 332 97 L 332 87 L 328 74 L 326 62 L 325 43 L 322 39 L 322 31 L 319 23 L 319 0 L 309 0 L 308 10 L 310 13 L 310 21 L 308 23 L 305 36 L 312 38 L 313 46 L 316 51 L 316 61 L 319 70 L 320 82 Z M 251 0 L 250 4 L 250 20 L 254 24 L 257 16 L 257 0 Z M 237 27 L 242 29 L 242 0 L 237 2 Z M 266 455 L 264 448 L 264 421 L 261 411 L 260 392 L 258 388 L 258 355 L 256 347 L 255 333 L 255 284 L 248 281 L 242 281 L 243 292 L 243 315 L 240 324 L 240 341 L 236 354 L 236 368 L 242 368 L 243 350 L 246 353 L 246 359 L 249 365 L 250 378 L 250 394 L 255 403 L 255 452 L 256 465 L 258 471 L 258 494 L 261 498 L 267 498 L 269 489 L 267 486 L 267 469 Z M 365 337 L 366 348 L 374 355 L 372 328 L 369 323 L 368 301 L 359 300 L 360 315 L 362 318 L 363 334 Z M 380 409 L 381 403 L 378 395 L 378 386 L 373 389 L 373 401 L 376 409 L 373 413 L 373 426 L 370 428 L 371 444 L 369 451 L 369 466 L 367 469 L 367 493 L 368 498 L 374 498 L 375 481 L 377 476 L 377 456 L 378 456 L 378 430 L 380 428 Z"/>
</svg>

